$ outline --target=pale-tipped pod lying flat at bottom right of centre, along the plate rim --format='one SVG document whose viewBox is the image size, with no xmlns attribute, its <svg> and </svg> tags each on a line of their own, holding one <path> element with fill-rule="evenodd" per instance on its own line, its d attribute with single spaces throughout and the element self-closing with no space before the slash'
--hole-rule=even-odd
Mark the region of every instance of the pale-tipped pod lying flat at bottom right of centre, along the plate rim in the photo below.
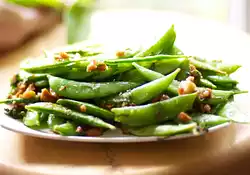
<svg viewBox="0 0 250 175">
<path fill-rule="evenodd" d="M 136 136 L 173 136 L 183 133 L 192 133 L 196 130 L 197 124 L 162 124 L 150 125 L 140 128 L 128 128 L 128 132 Z"/>
</svg>

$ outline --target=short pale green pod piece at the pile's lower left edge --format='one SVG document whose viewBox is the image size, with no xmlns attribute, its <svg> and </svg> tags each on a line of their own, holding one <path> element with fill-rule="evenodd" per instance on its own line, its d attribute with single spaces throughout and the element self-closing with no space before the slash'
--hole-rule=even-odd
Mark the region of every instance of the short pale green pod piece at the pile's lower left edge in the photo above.
<svg viewBox="0 0 250 175">
<path fill-rule="evenodd" d="M 39 126 L 40 125 L 40 113 L 36 111 L 27 111 L 23 118 L 23 123 L 26 126 Z"/>
</svg>

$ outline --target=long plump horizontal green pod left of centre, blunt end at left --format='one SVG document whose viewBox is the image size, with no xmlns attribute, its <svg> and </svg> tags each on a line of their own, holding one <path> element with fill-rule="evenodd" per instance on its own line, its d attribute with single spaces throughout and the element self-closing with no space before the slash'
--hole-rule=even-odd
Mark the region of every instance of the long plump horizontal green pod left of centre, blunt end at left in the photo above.
<svg viewBox="0 0 250 175">
<path fill-rule="evenodd" d="M 83 100 L 117 94 L 139 85 L 135 82 L 86 83 L 48 76 L 50 88 L 59 96 Z"/>
</svg>

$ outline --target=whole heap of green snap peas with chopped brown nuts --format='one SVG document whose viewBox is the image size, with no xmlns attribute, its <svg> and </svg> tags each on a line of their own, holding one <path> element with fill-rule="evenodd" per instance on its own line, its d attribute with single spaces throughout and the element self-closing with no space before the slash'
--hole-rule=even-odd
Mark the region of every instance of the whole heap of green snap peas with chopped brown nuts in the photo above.
<svg viewBox="0 0 250 175">
<path fill-rule="evenodd" d="M 26 59 L 0 103 L 32 129 L 98 137 L 121 129 L 135 136 L 197 134 L 228 122 L 249 123 L 231 78 L 241 66 L 185 55 L 172 25 L 155 43 L 113 50 L 77 43 Z"/>
</svg>

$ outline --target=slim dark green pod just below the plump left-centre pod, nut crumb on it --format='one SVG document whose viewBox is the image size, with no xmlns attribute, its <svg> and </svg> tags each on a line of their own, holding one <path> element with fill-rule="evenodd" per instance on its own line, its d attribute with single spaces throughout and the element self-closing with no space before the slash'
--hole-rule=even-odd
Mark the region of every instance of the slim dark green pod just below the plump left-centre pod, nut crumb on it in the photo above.
<svg viewBox="0 0 250 175">
<path fill-rule="evenodd" d="M 78 112 L 91 114 L 91 115 L 101 117 L 104 119 L 112 119 L 112 120 L 114 119 L 114 114 L 112 112 L 110 112 L 106 109 L 100 108 L 98 106 L 95 106 L 93 104 L 90 104 L 90 103 L 80 102 L 80 101 L 75 101 L 75 100 L 70 100 L 70 99 L 59 99 L 59 100 L 57 100 L 56 103 L 58 103 L 62 106 L 65 106 L 67 108 L 76 110 Z M 82 106 L 86 109 L 86 111 L 83 111 L 81 109 Z"/>
</svg>

